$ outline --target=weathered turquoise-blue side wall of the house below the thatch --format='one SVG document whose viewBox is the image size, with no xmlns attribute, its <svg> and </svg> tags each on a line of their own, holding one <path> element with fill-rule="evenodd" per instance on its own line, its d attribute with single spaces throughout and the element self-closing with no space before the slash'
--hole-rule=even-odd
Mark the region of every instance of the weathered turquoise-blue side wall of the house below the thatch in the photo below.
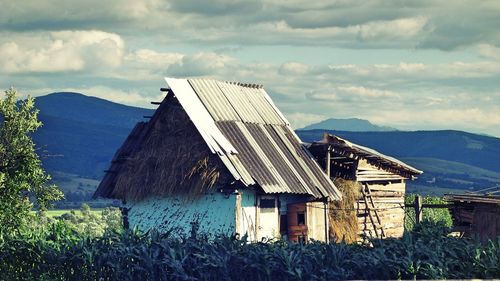
<svg viewBox="0 0 500 281">
<path fill-rule="evenodd" d="M 193 222 L 199 232 L 209 235 L 235 233 L 236 195 L 208 193 L 197 199 L 153 197 L 127 204 L 130 227 L 156 228 L 174 235 L 189 235 Z"/>
</svg>

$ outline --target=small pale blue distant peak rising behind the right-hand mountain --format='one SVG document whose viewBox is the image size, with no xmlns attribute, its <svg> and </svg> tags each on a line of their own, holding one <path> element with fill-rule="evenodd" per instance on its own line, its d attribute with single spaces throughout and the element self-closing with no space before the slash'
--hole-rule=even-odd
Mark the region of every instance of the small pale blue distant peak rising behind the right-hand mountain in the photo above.
<svg viewBox="0 0 500 281">
<path fill-rule="evenodd" d="M 378 126 L 368 120 L 359 118 L 336 119 L 330 118 L 318 123 L 305 126 L 299 130 L 337 130 L 337 131 L 351 131 L 351 132 L 383 132 L 383 131 L 396 131 L 396 129 L 386 126 Z"/>
</svg>

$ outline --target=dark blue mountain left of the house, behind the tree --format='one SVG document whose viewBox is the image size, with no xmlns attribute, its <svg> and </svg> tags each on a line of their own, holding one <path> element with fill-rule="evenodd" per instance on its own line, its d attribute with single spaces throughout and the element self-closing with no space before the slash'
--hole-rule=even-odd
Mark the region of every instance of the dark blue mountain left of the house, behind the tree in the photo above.
<svg viewBox="0 0 500 281">
<path fill-rule="evenodd" d="M 143 116 L 153 110 L 77 93 L 38 97 L 43 127 L 33 138 L 49 171 L 100 179 L 116 149 Z"/>
</svg>

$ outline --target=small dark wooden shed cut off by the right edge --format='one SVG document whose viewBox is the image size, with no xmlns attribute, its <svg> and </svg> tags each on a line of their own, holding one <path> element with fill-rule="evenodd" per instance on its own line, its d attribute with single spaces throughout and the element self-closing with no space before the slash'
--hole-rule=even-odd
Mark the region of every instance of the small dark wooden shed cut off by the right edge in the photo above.
<svg viewBox="0 0 500 281">
<path fill-rule="evenodd" d="M 498 194 L 500 186 L 495 188 Z M 500 236 L 500 196 L 494 193 L 446 195 L 454 230 L 481 242 L 496 240 Z"/>
</svg>

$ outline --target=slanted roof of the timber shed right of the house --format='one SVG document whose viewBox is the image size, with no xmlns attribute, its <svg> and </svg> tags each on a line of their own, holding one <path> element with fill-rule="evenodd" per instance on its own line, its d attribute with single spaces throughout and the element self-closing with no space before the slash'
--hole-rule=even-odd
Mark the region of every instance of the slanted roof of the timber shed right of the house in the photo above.
<svg viewBox="0 0 500 281">
<path fill-rule="evenodd" d="M 326 132 L 323 135 L 323 139 L 310 144 L 309 149 L 314 151 L 329 149 L 338 154 L 340 157 L 345 157 L 346 159 L 365 159 L 368 163 L 380 169 L 404 176 L 406 178 L 413 178 L 416 175 L 422 174 L 422 171 L 405 164 L 394 157 L 384 155 L 374 149 L 352 143 L 341 137 L 328 134 Z M 337 161 L 339 160 L 337 159 Z"/>
</svg>

